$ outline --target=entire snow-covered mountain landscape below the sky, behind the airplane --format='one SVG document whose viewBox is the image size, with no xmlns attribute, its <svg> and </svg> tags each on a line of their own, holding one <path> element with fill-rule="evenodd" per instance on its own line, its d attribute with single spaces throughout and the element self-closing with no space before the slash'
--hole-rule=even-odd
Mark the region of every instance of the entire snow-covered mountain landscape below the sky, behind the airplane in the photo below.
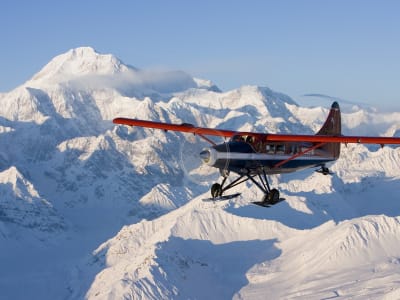
<svg viewBox="0 0 400 300">
<path fill-rule="evenodd" d="M 0 299 L 400 298 L 399 149 L 347 145 L 333 176 L 271 176 L 286 201 L 267 209 L 250 183 L 202 201 L 218 172 L 196 136 L 111 122 L 312 134 L 327 108 L 89 47 L 0 102 Z M 343 131 L 399 136 L 398 120 L 351 109 Z"/>
</svg>

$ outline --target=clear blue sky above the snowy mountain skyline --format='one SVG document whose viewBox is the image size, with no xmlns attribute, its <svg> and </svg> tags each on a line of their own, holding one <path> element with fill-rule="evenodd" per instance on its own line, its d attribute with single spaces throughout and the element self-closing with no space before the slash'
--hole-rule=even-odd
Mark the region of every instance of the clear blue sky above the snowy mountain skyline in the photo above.
<svg viewBox="0 0 400 300">
<path fill-rule="evenodd" d="M 0 3 L 0 91 L 91 46 L 138 68 L 183 70 L 221 89 L 268 86 L 400 109 L 400 1 Z"/>
</svg>

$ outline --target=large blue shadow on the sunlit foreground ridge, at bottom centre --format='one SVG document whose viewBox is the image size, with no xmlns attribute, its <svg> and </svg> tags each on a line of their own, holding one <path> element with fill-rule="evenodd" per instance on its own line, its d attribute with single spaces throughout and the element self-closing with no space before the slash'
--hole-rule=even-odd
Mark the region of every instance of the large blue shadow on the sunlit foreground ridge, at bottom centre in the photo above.
<svg viewBox="0 0 400 300">
<path fill-rule="evenodd" d="M 152 273 L 159 281 L 157 286 L 178 291 L 178 299 L 231 299 L 248 284 L 249 269 L 280 256 L 275 243 L 250 240 L 213 244 L 171 237 L 157 245 L 158 266 Z"/>
</svg>

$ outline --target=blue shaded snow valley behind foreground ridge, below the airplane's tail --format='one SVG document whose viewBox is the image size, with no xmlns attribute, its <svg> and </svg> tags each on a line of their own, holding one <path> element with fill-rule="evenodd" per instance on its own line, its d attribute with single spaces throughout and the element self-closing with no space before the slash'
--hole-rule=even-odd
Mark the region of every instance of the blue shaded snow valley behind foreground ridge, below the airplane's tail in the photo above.
<svg viewBox="0 0 400 300">
<path fill-rule="evenodd" d="M 229 205 L 226 211 L 241 217 L 278 221 L 294 229 L 312 229 L 330 220 L 338 223 L 367 215 L 399 216 L 400 196 L 393 192 L 399 189 L 400 179 L 367 177 L 361 182 L 345 183 L 334 175 L 331 193 L 281 190 L 287 201 L 270 208 L 249 203 L 240 207 Z"/>
</svg>

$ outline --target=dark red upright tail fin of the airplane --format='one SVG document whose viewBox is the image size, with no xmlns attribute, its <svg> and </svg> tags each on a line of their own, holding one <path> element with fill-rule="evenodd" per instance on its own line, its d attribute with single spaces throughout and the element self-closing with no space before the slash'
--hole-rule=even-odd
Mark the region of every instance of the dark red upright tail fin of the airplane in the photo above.
<svg viewBox="0 0 400 300">
<path fill-rule="evenodd" d="M 328 118 L 316 135 L 342 135 L 340 107 L 336 101 L 332 103 Z M 321 149 L 331 153 L 334 158 L 338 158 L 340 155 L 340 143 L 327 143 L 326 145 L 322 146 Z"/>
</svg>

